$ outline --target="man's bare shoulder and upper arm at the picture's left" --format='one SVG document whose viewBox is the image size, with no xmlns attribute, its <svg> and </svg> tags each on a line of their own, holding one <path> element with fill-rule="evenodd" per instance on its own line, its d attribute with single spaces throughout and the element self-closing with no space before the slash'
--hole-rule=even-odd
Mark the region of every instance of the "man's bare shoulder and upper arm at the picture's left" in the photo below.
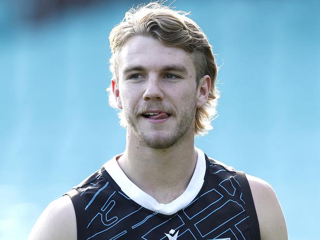
<svg viewBox="0 0 320 240">
<path fill-rule="evenodd" d="M 77 223 L 71 199 L 63 196 L 42 212 L 28 240 L 77 240 Z"/>
</svg>

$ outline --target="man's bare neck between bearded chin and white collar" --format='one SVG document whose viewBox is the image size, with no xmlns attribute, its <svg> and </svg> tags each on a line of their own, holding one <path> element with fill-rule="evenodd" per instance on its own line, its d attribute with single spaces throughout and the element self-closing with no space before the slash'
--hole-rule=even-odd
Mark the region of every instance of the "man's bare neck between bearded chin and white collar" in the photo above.
<svg viewBox="0 0 320 240">
<path fill-rule="evenodd" d="M 118 164 L 141 190 L 166 204 L 186 190 L 196 159 L 193 135 L 168 149 L 153 149 L 127 133 L 126 150 Z"/>
</svg>

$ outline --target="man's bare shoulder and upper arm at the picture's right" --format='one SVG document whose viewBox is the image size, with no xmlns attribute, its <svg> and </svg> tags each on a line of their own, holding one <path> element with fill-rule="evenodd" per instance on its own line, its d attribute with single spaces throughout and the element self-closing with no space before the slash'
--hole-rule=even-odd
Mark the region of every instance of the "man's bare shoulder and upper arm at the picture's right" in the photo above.
<svg viewBox="0 0 320 240">
<path fill-rule="evenodd" d="M 246 174 L 255 203 L 261 240 L 288 240 L 284 214 L 275 191 L 269 183 Z"/>
</svg>

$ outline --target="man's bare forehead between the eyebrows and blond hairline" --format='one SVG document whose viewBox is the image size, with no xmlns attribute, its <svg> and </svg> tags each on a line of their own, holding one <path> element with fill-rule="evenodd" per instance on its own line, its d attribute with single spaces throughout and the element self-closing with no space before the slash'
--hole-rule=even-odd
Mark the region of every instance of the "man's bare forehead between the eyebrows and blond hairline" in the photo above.
<svg viewBox="0 0 320 240">
<path fill-rule="evenodd" d="M 119 54 L 119 73 L 128 66 L 140 65 L 146 69 L 159 70 L 162 66 L 183 65 L 190 74 L 195 67 L 191 54 L 179 47 L 162 44 L 158 39 L 134 36 L 122 47 Z"/>
</svg>

